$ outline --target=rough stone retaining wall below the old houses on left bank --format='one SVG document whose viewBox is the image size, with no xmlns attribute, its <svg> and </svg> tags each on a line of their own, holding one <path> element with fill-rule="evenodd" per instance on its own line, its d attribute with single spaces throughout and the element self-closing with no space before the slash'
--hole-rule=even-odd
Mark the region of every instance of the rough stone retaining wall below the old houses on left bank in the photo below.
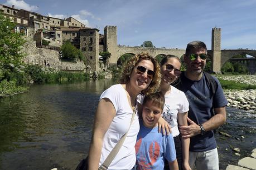
<svg viewBox="0 0 256 170">
<path fill-rule="evenodd" d="M 85 64 L 83 62 L 61 62 L 59 51 L 46 48 L 37 48 L 36 42 L 31 38 L 27 38 L 27 43 L 24 45 L 22 52 L 26 53 L 23 59 L 25 63 L 38 64 L 45 66 L 44 61 L 48 61 L 51 68 L 62 71 L 84 71 Z"/>
</svg>

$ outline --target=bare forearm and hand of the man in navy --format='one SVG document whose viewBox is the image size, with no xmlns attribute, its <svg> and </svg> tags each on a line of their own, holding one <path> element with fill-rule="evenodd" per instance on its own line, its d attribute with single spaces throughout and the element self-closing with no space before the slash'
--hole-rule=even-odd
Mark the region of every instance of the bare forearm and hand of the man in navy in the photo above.
<svg viewBox="0 0 256 170">
<path fill-rule="evenodd" d="M 223 125 L 226 121 L 226 106 L 214 108 L 215 115 L 211 117 L 208 121 L 202 123 L 202 126 L 205 128 L 205 131 L 211 131 Z M 201 133 L 201 128 L 198 124 L 191 121 L 190 118 L 187 118 L 187 121 L 190 123 L 189 126 L 179 126 L 180 132 L 183 138 L 190 138 Z"/>
</svg>

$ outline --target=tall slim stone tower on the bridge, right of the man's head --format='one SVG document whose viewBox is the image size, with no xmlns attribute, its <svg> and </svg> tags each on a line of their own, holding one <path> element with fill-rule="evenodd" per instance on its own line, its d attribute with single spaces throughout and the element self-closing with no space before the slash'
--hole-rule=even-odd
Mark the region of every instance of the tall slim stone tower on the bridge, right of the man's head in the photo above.
<svg viewBox="0 0 256 170">
<path fill-rule="evenodd" d="M 211 51 L 212 51 L 212 71 L 221 73 L 221 29 L 212 28 L 211 30 Z"/>
</svg>

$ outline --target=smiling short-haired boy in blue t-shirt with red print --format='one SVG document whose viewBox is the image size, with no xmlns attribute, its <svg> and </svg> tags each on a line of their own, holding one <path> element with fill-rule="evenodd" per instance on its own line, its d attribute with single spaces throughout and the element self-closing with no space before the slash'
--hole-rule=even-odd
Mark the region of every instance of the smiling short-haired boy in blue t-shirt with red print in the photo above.
<svg viewBox="0 0 256 170">
<path fill-rule="evenodd" d="M 178 170 L 172 134 L 158 133 L 157 122 L 164 105 L 165 96 L 161 92 L 144 98 L 142 119 L 139 121 L 140 129 L 135 145 L 137 169 L 163 169 L 166 159 L 170 169 Z"/>
</svg>

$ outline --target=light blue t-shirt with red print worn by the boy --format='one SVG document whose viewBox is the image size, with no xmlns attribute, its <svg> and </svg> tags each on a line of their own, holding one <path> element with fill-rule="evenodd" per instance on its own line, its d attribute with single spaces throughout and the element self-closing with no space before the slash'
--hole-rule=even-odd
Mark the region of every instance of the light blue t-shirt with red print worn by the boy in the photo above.
<svg viewBox="0 0 256 170">
<path fill-rule="evenodd" d="M 164 158 L 168 162 L 176 159 L 172 134 L 165 136 L 158 133 L 158 127 L 144 127 L 142 119 L 139 121 L 139 126 L 135 145 L 138 169 L 163 169 Z"/>
</svg>

